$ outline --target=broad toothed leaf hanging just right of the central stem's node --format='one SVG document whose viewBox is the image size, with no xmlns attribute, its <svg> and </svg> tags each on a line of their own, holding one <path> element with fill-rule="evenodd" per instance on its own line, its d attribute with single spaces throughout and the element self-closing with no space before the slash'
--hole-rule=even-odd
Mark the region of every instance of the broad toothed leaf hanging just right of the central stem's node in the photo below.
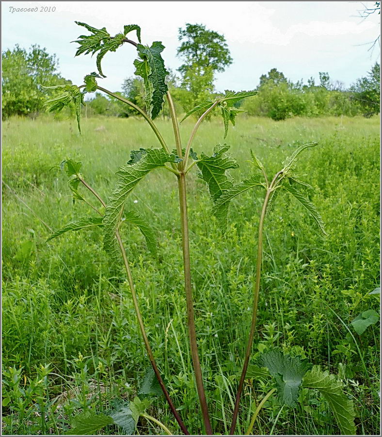
<svg viewBox="0 0 382 437">
<path fill-rule="evenodd" d="M 239 167 L 236 160 L 226 154 L 229 147 L 226 144 L 215 146 L 212 156 L 207 156 L 202 152 L 200 160 L 196 163 L 200 170 L 200 177 L 207 182 L 209 194 L 214 203 L 233 186 L 226 170 Z"/>
</svg>

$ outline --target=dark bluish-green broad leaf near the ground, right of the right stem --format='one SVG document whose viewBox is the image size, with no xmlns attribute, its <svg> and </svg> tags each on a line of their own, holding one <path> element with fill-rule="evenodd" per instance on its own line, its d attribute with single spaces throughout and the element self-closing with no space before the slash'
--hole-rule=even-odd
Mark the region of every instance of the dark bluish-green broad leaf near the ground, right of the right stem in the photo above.
<svg viewBox="0 0 382 437">
<path fill-rule="evenodd" d="M 299 396 L 302 377 L 308 370 L 307 363 L 299 357 L 284 355 L 279 351 L 263 353 L 258 361 L 275 379 L 280 403 L 294 406 Z"/>
</svg>

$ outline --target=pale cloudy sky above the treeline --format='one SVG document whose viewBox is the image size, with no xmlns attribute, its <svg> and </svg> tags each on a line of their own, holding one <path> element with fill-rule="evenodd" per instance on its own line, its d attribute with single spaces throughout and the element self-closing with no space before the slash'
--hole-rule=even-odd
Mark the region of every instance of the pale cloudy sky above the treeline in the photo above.
<svg viewBox="0 0 382 437">
<path fill-rule="evenodd" d="M 55 11 L 40 12 L 49 6 Z M 12 12 L 29 7 L 38 11 Z M 39 44 L 57 55 L 66 79 L 82 84 L 83 76 L 96 70 L 96 59 L 74 57 L 77 45 L 70 42 L 87 33 L 75 20 L 106 27 L 111 35 L 125 24 L 139 24 L 143 44 L 162 41 L 165 65 L 173 70 L 182 64 L 176 57 L 178 29 L 198 23 L 224 35 L 234 60 L 217 74 L 218 91 L 253 89 L 273 67 L 304 83 L 310 77 L 318 83 L 318 72 L 327 71 L 347 87 L 380 62 L 379 47 L 371 53 L 367 44 L 380 33 L 380 16 L 362 19 L 362 9 L 359 1 L 2 1 L 1 45 L 7 50 Z M 134 74 L 135 58 L 131 45 L 108 53 L 102 67 L 107 78 L 99 84 L 121 91 Z"/>
</svg>

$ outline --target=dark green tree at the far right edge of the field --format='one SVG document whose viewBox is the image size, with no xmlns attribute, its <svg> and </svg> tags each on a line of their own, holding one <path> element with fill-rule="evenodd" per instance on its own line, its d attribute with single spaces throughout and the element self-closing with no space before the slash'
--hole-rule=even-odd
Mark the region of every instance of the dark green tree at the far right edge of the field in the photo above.
<svg viewBox="0 0 382 437">
<path fill-rule="evenodd" d="M 381 110 L 381 66 L 376 62 L 366 77 L 362 77 L 350 87 L 353 100 L 362 108 L 365 117 L 378 114 Z"/>
</svg>

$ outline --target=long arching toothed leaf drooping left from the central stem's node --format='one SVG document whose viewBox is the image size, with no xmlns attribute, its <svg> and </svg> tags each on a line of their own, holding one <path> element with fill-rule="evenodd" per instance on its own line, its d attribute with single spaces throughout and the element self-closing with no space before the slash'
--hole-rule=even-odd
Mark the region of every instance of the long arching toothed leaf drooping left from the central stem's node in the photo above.
<svg viewBox="0 0 382 437">
<path fill-rule="evenodd" d="M 122 217 L 123 207 L 127 196 L 135 186 L 151 170 L 163 167 L 167 162 L 174 162 L 175 157 L 169 155 L 163 149 L 148 149 L 141 153 L 141 159 L 132 165 L 120 167 L 117 172 L 116 188 L 112 192 L 105 212 L 104 223 L 104 249 L 114 260 L 118 259 L 118 249 L 115 246 L 115 231 L 119 219 Z"/>
</svg>

